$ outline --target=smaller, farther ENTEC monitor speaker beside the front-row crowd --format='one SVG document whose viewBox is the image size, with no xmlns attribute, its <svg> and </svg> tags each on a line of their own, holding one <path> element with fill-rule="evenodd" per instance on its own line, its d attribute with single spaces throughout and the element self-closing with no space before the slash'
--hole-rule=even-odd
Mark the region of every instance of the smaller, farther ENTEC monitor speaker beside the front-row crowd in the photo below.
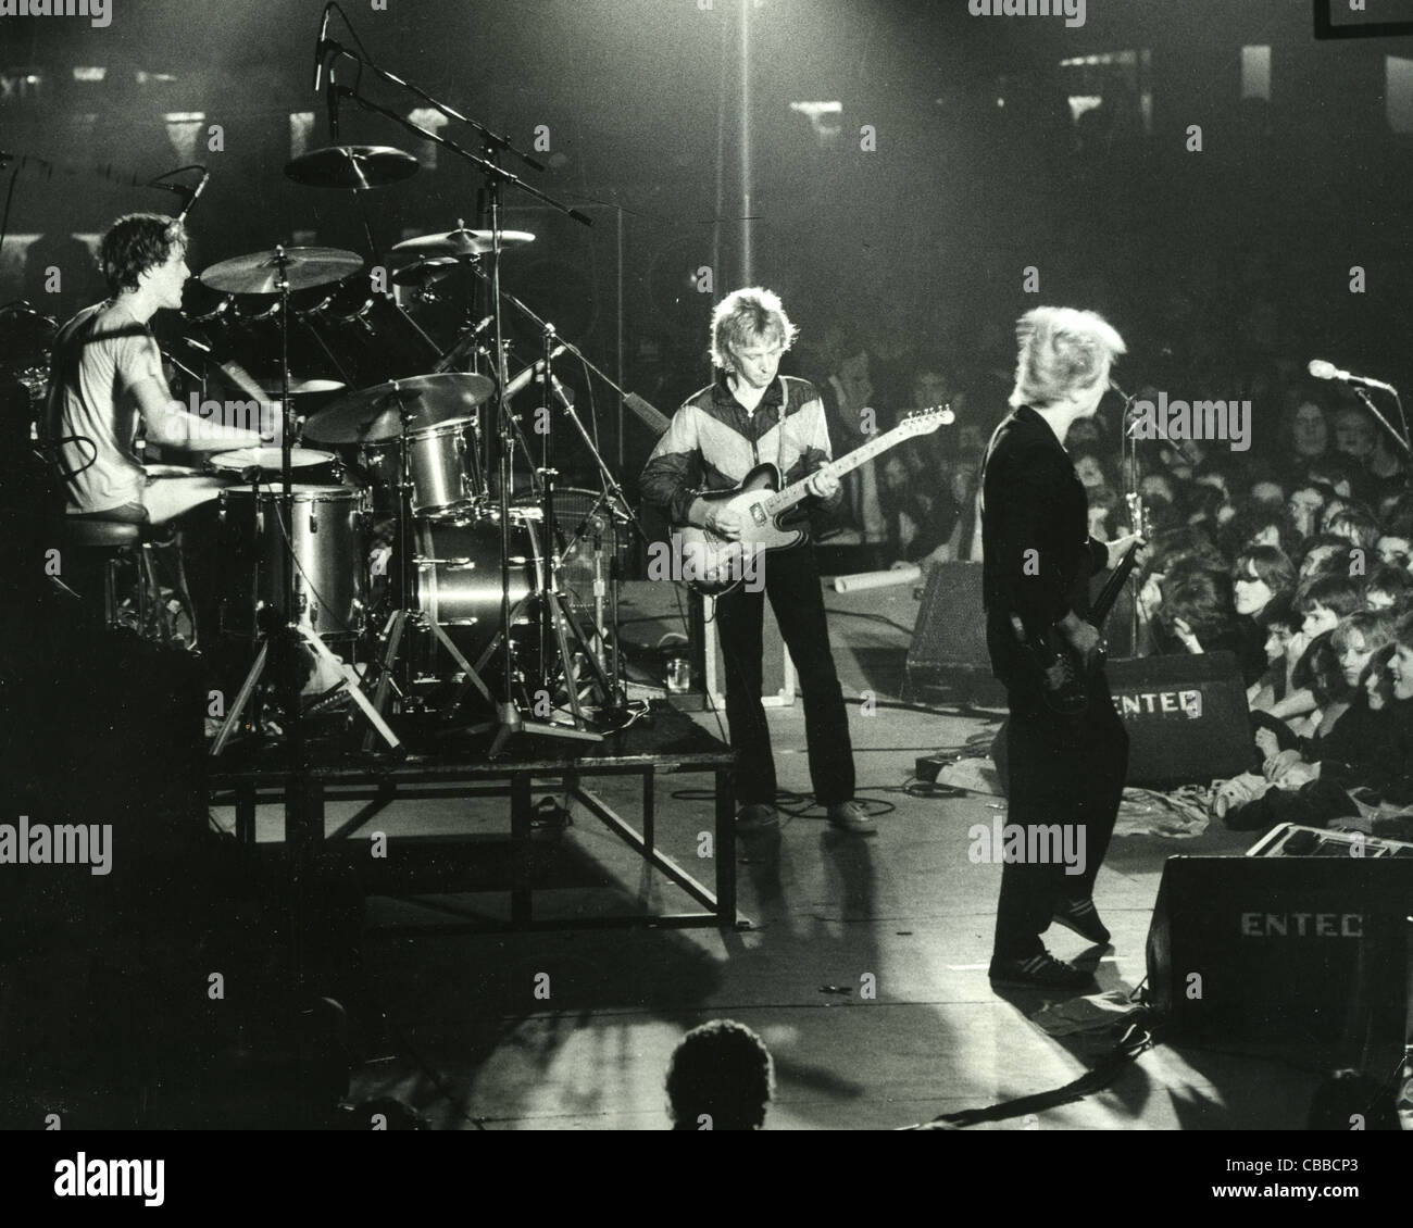
<svg viewBox="0 0 1413 1228">
<path fill-rule="evenodd" d="M 1169 789 L 1239 776 L 1252 763 L 1246 685 L 1232 653 L 1109 661 L 1129 731 L 1126 784 Z"/>
</svg>

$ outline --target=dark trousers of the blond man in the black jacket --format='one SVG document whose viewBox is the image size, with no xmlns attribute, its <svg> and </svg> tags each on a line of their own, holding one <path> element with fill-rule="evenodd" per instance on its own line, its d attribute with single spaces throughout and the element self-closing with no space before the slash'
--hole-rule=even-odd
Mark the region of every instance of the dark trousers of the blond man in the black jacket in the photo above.
<svg viewBox="0 0 1413 1228">
<path fill-rule="evenodd" d="M 1129 733 L 1113 711 L 1102 671 L 1091 684 L 1089 707 L 1078 716 L 1056 715 L 1029 688 L 1012 690 L 1009 697 L 1006 825 L 1084 828 L 1081 873 L 1067 873 L 1058 858 L 1012 861 L 1002 870 L 993 958 L 1024 960 L 1044 950 L 1040 934 L 1061 900 L 1094 893 L 1123 794 Z"/>
</svg>

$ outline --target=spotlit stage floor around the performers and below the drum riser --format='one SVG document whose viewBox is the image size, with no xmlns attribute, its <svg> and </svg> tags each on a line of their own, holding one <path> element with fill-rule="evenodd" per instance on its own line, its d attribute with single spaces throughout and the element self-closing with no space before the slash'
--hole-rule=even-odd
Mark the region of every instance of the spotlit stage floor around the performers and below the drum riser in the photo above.
<svg viewBox="0 0 1413 1228">
<path fill-rule="evenodd" d="M 633 586 L 625 618 L 646 643 L 671 630 L 670 596 Z M 896 698 L 907 636 L 855 615 L 911 626 L 917 602 L 896 588 L 828 594 L 845 692 Z M 852 610 L 853 613 L 844 613 Z M 651 618 L 663 615 L 661 627 Z M 798 705 L 769 712 L 783 789 L 807 790 Z M 715 729 L 714 716 L 695 719 Z M 439 1128 L 666 1128 L 663 1073 L 682 1032 L 714 1017 L 756 1029 L 774 1054 L 777 1095 L 767 1129 L 890 1129 L 942 1112 L 1041 1092 L 1081 1075 L 1108 1041 L 1056 1040 L 1030 1016 L 1040 992 L 999 996 L 986 978 L 1000 866 L 968 859 L 968 828 L 1002 804 L 870 793 L 903 784 L 918 753 L 959 746 L 986 726 L 979 715 L 935 716 L 851 705 L 861 796 L 896 808 L 872 839 L 839 835 L 822 818 L 783 815 L 779 832 L 738 846 L 740 911 L 752 927 L 564 931 L 486 935 L 370 934 L 365 961 L 390 1027 L 386 1058 L 365 1065 L 357 1095 L 397 1095 Z M 680 777 L 688 797 L 658 784 L 658 841 L 688 868 L 711 831 L 702 777 Z M 603 781 L 610 804 L 633 813 L 633 781 Z M 503 803 L 390 807 L 377 827 L 398 834 L 506 831 Z M 352 807 L 350 807 L 352 808 Z M 331 805 L 332 831 L 341 815 Z M 280 817 L 261 817 L 278 838 Z M 593 916 L 688 903 L 664 887 L 589 815 L 540 837 L 557 846 L 562 887 L 537 896 L 537 916 Z M 1249 839 L 1208 828 L 1198 838 L 1118 838 L 1095 893 L 1113 931 L 1096 967 L 1102 991 L 1145 975 L 1143 941 L 1163 861 L 1173 854 L 1241 852 Z M 705 876 L 699 875 L 699 876 Z M 557 875 L 557 878 L 560 878 Z M 503 896 L 373 900 L 369 923 L 504 916 Z M 1047 935 L 1063 957 L 1084 943 Z M 548 974 L 548 1000 L 536 996 Z M 875 978 L 876 998 L 863 996 Z M 372 1043 L 373 1039 L 369 1037 Z M 374 1043 L 374 1049 L 379 1046 Z M 415 1053 L 415 1058 L 413 1057 Z M 437 1084 L 428 1074 L 435 1071 Z M 1306 1116 L 1314 1077 L 1280 1063 L 1159 1047 L 1106 1091 L 1039 1115 L 1041 1129 L 1291 1129 Z M 1020 1129 L 1023 1118 L 981 1129 Z"/>
</svg>

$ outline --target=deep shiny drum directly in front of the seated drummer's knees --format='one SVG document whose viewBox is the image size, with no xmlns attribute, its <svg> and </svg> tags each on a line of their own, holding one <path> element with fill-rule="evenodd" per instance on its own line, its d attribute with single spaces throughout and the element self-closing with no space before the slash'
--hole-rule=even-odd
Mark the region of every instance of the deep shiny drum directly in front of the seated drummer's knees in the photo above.
<svg viewBox="0 0 1413 1228">
<path fill-rule="evenodd" d="M 343 486 L 294 486 L 294 609 L 301 626 L 324 639 L 363 632 L 366 500 Z M 222 629 L 257 632 L 257 610 L 288 610 L 284 599 L 285 533 L 280 489 L 232 486 L 220 492 L 220 519 L 230 585 L 222 601 Z"/>
</svg>

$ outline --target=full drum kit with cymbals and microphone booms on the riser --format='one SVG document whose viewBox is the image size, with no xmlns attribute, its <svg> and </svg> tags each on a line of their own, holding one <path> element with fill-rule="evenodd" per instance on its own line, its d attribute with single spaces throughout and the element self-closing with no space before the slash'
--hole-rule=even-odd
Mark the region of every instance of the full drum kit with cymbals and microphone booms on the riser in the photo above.
<svg viewBox="0 0 1413 1228">
<path fill-rule="evenodd" d="M 273 692 L 283 708 L 277 724 L 302 762 L 307 707 L 291 664 L 297 654 L 271 653 L 298 642 L 328 667 L 322 678 L 338 680 L 317 707 L 350 697 L 370 725 L 366 750 L 379 738 L 389 750 L 401 749 L 387 722 L 394 711 L 452 721 L 472 691 L 489 718 L 485 728 L 496 731 L 492 755 L 520 732 L 601 740 L 601 731 L 629 716 L 613 579 L 620 538 L 642 527 L 596 448 L 596 425 L 585 428 L 555 376 L 555 359 L 571 355 L 586 379 L 608 384 L 650 425 L 660 415 L 502 287 L 502 257 L 536 242 L 502 225 L 502 191 L 524 192 L 582 225 L 592 219 L 504 170 L 507 157 L 544 170 L 506 137 L 382 69 L 362 48 L 324 37 L 329 8 L 338 6 L 325 10 L 315 92 L 326 68 L 331 144 L 288 163 L 287 178 L 357 195 L 418 174 L 418 160 L 400 148 L 339 143 L 338 107 L 346 99 L 476 167 L 485 228 L 458 220 L 387 249 L 384 264 L 404 297 L 452 304 L 459 324 L 448 345 L 389 291 L 383 267 L 370 276 L 380 249 L 366 211 L 369 260 L 314 246 L 223 260 L 188 283 L 179 326 L 158 328 L 164 358 L 191 389 L 205 397 L 208 382 L 223 373 L 261 413 L 277 407 L 280 420 L 273 447 L 223 451 L 203 441 L 192 445 L 205 456 L 198 466 L 147 466 L 154 520 L 218 506 L 222 642 L 253 657 L 212 753 L 237 729 L 270 728 L 256 708 Z M 366 69 L 471 127 L 479 153 L 367 100 L 357 85 L 339 85 L 343 59 L 356 61 L 359 79 Z M 182 216 L 199 189 L 185 195 Z M 514 379 L 503 318 L 510 308 L 543 345 Z M 0 350 L 11 367 L 23 366 L 31 421 L 52 338 L 54 322 L 27 304 L 0 308 Z M 512 408 L 531 386 L 538 455 Z M 544 430 L 551 411 L 574 427 L 598 489 L 555 489 Z M 270 437 L 261 431 L 261 438 Z M 267 666 L 277 677 L 260 687 Z"/>
</svg>

